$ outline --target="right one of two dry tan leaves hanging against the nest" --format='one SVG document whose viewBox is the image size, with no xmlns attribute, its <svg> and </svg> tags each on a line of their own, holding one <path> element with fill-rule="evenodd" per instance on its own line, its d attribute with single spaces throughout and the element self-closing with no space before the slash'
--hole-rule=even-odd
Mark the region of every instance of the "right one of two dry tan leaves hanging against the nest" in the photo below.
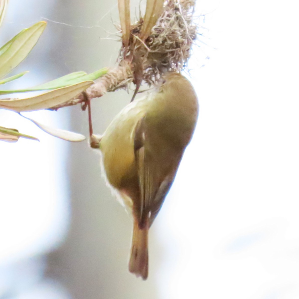
<svg viewBox="0 0 299 299">
<path fill-rule="evenodd" d="M 161 16 L 163 11 L 163 2 L 164 0 L 147 0 L 147 7 L 145 10 L 143 24 L 141 26 L 141 33 L 139 35 L 142 41 L 145 41 L 148 38 L 152 28 Z"/>
</svg>

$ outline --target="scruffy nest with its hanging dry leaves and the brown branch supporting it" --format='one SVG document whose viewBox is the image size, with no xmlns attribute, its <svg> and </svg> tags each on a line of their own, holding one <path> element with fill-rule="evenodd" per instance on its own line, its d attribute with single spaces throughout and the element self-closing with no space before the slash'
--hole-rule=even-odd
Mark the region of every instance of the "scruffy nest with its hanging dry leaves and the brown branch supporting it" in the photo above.
<svg viewBox="0 0 299 299">
<path fill-rule="evenodd" d="M 195 0 L 147 0 L 144 16 L 131 24 L 130 1 L 118 0 L 118 29 L 122 34 L 118 66 L 96 80 L 77 99 L 53 109 L 86 103 L 86 97 L 92 99 L 109 91 L 127 89 L 131 82 L 136 85 L 135 96 L 142 81 L 151 86 L 167 71 L 181 72 L 187 66 L 197 38 L 194 6 Z"/>
</svg>

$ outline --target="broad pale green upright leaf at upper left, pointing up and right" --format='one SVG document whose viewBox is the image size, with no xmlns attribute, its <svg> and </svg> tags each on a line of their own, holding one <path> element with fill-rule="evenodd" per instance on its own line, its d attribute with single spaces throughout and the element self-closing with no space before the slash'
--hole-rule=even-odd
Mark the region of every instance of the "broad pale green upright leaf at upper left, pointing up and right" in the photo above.
<svg viewBox="0 0 299 299">
<path fill-rule="evenodd" d="M 46 25 L 46 22 L 42 21 L 22 30 L 0 49 L 0 78 L 12 71 L 25 59 Z"/>
</svg>

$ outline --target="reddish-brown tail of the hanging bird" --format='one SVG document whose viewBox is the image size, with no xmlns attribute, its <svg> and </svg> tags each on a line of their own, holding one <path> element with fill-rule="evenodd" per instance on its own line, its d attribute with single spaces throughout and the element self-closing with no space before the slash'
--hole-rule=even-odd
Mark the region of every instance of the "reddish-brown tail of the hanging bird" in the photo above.
<svg viewBox="0 0 299 299">
<path fill-rule="evenodd" d="M 141 276 L 144 280 L 148 274 L 148 225 L 139 228 L 138 221 L 134 219 L 133 239 L 131 257 L 129 261 L 129 271 L 137 277 Z"/>
</svg>

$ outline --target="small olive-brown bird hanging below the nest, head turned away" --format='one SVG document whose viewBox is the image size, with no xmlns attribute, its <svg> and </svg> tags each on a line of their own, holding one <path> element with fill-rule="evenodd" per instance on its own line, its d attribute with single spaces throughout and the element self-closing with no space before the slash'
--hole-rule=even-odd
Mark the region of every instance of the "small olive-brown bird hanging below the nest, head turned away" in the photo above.
<svg viewBox="0 0 299 299">
<path fill-rule="evenodd" d="M 91 136 L 100 149 L 107 185 L 133 218 L 129 271 L 148 277 L 148 231 L 175 179 L 198 118 L 196 92 L 177 72 L 147 96 L 135 99 L 103 135 Z"/>
</svg>

